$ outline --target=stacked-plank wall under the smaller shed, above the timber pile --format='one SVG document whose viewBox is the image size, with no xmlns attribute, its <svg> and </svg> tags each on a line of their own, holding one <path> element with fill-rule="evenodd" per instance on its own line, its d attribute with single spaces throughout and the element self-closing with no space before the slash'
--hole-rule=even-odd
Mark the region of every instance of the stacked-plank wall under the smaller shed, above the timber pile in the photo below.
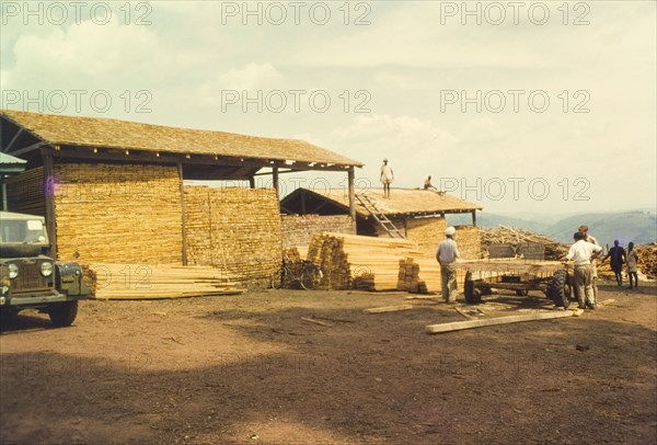
<svg viewBox="0 0 657 445">
<path fill-rule="evenodd" d="M 281 215 L 283 248 L 310 246 L 313 235 L 323 231 L 356 235 L 349 215 Z"/>
</svg>

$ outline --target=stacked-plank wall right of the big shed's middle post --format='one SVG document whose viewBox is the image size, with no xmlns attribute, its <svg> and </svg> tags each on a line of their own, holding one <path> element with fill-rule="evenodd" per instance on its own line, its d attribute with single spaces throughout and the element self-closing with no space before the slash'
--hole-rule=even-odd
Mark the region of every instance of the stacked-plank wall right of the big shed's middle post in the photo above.
<svg viewBox="0 0 657 445">
<path fill-rule="evenodd" d="M 185 186 L 187 263 L 215 265 L 243 285 L 279 276 L 280 210 L 274 189 Z"/>
</svg>

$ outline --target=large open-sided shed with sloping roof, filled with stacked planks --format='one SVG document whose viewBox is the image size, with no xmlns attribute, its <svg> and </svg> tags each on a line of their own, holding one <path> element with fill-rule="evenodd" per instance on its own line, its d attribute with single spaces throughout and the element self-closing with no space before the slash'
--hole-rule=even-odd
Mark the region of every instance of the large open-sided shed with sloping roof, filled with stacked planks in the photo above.
<svg viewBox="0 0 657 445">
<path fill-rule="evenodd" d="M 26 161 L 3 180 L 12 212 L 46 217 L 59 260 L 214 265 L 242 283 L 280 271 L 279 174 L 362 164 L 292 139 L 0 111 L 0 149 Z M 256 189 L 258 175 L 272 187 Z M 195 181 L 244 181 L 209 187 Z"/>
</svg>

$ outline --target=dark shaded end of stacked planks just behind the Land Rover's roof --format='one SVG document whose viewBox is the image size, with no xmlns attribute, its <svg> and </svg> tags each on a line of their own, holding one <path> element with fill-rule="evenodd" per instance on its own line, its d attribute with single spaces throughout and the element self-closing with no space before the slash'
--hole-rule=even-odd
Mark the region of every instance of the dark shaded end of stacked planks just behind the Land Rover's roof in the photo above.
<svg viewBox="0 0 657 445">
<path fill-rule="evenodd" d="M 10 212 L 46 216 L 43 167 L 8 178 L 5 182 Z"/>
</svg>

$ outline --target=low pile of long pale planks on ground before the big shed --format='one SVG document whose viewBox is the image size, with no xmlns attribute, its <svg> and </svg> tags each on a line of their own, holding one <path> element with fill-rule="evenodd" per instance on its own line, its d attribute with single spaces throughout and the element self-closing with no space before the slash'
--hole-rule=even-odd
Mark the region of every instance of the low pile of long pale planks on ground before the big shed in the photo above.
<svg viewBox="0 0 657 445">
<path fill-rule="evenodd" d="M 85 278 L 97 299 L 185 298 L 242 294 L 215 267 L 94 263 Z"/>
</svg>

